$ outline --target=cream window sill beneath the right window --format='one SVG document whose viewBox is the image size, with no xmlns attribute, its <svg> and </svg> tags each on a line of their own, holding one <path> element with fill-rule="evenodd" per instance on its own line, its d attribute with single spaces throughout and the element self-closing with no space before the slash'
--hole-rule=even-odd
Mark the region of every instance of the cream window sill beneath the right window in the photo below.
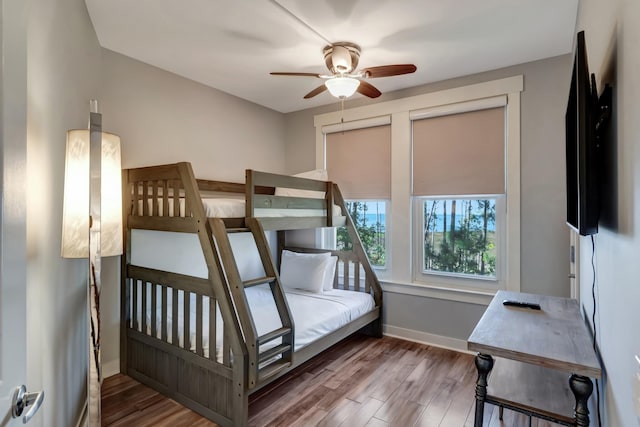
<svg viewBox="0 0 640 427">
<path fill-rule="evenodd" d="M 446 288 L 418 283 L 403 283 L 391 280 L 380 280 L 382 290 L 395 294 L 436 298 L 469 304 L 489 305 L 496 291 L 478 291 L 468 289 Z"/>
</svg>

